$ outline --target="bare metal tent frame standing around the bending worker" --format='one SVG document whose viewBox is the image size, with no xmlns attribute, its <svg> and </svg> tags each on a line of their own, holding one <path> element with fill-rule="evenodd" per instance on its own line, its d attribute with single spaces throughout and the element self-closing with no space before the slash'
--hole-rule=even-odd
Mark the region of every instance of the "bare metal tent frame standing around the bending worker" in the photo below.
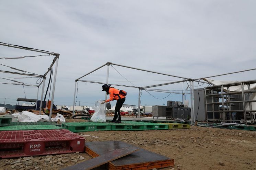
<svg viewBox="0 0 256 170">
<path fill-rule="evenodd" d="M 141 90 L 149 90 L 148 88 L 151 87 L 158 87 L 158 86 L 164 86 L 164 85 L 169 85 L 169 84 L 176 84 L 176 83 L 182 83 L 185 81 L 189 81 L 189 86 L 190 86 L 190 100 L 191 100 L 191 123 L 194 124 L 194 88 L 193 88 L 193 80 L 191 78 L 186 78 L 186 77 L 181 77 L 181 76 L 175 76 L 175 75 L 170 75 L 170 74 L 165 74 L 165 73 L 159 73 L 159 72 L 154 72 L 154 71 L 149 71 L 149 70 L 144 70 L 144 69 L 138 69 L 138 68 L 134 68 L 134 67 L 130 67 L 130 66 L 125 66 L 125 65 L 120 65 L 120 64 L 115 64 L 112 62 L 107 62 L 105 64 L 103 64 L 102 66 L 98 67 L 97 69 L 94 69 L 93 71 L 77 78 L 75 80 L 75 92 L 74 92 L 74 101 L 73 101 L 73 115 L 75 115 L 75 98 L 76 98 L 76 86 L 77 86 L 77 82 L 87 82 L 87 83 L 98 83 L 98 84 L 105 84 L 102 82 L 94 82 L 94 81 L 86 81 L 86 80 L 80 80 L 81 78 L 93 73 L 96 70 L 99 70 L 100 68 L 103 68 L 105 65 L 107 65 L 107 80 L 106 80 L 106 84 L 109 84 L 108 80 L 109 80 L 109 66 L 110 65 L 117 65 L 117 66 L 121 66 L 121 67 L 125 67 L 125 68 L 130 68 L 130 69 L 135 69 L 135 70 L 140 70 L 140 71 L 145 71 L 145 72 L 150 72 L 150 73 L 155 73 L 155 74 L 161 74 L 161 75 L 166 75 L 166 76 L 171 76 L 171 77 L 178 77 L 178 78 L 183 78 L 183 80 L 181 81 L 176 81 L 176 82 L 170 82 L 170 83 L 162 83 L 162 84 L 156 84 L 156 85 L 151 85 L 151 86 L 144 86 L 144 87 L 136 87 L 136 86 L 127 86 L 127 85 L 122 85 L 122 84 L 109 84 L 109 85 L 113 85 L 113 86 L 124 86 L 124 87 L 132 87 L 132 88 L 138 88 L 139 93 L 138 93 L 138 116 L 140 116 L 140 94 L 141 94 Z M 194 80 L 197 81 L 197 80 Z M 153 91 L 153 90 L 151 90 Z M 165 93 L 169 93 L 169 92 L 165 92 Z M 174 92 L 171 92 L 174 93 Z M 177 93 L 178 94 L 178 93 Z M 182 94 L 182 93 L 180 93 Z M 183 94 L 182 94 L 183 95 Z M 107 94 L 105 95 L 105 99 L 107 99 Z"/>
</svg>

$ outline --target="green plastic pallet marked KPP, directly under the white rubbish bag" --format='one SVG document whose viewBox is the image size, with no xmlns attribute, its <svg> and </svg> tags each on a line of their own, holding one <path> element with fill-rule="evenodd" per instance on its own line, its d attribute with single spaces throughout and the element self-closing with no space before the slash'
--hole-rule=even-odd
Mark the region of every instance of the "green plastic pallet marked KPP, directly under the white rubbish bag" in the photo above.
<svg viewBox="0 0 256 170">
<path fill-rule="evenodd" d="M 62 127 L 71 132 L 88 132 L 88 131 L 110 131 L 111 125 L 101 122 L 70 122 L 62 123 Z"/>
</svg>

